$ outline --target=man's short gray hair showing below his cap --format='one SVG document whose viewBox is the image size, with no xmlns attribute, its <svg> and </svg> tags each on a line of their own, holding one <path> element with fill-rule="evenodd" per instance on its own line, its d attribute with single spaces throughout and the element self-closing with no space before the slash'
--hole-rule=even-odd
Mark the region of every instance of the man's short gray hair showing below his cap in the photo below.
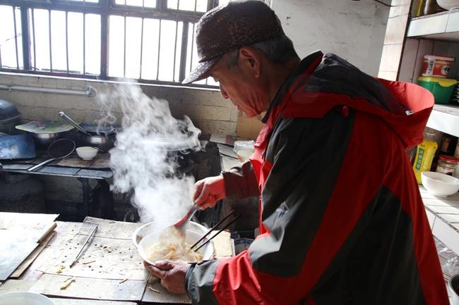
<svg viewBox="0 0 459 305">
<path fill-rule="evenodd" d="M 264 42 L 257 42 L 256 44 L 252 44 L 251 47 L 263 52 L 266 58 L 268 58 L 268 61 L 272 63 L 287 63 L 292 58 L 299 58 L 293 47 L 292 40 L 285 34 L 265 40 Z M 227 52 L 223 58 L 228 68 L 237 66 L 239 49 Z"/>
</svg>

